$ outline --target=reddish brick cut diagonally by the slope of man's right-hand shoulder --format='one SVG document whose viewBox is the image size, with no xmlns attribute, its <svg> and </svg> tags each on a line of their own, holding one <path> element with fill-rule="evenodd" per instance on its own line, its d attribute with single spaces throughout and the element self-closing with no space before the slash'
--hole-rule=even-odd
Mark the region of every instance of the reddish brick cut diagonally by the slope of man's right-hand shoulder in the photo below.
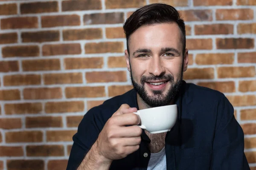
<svg viewBox="0 0 256 170">
<path fill-rule="evenodd" d="M 236 91 L 235 82 L 198 82 L 198 85 L 221 91 L 222 93 Z"/>
</svg>

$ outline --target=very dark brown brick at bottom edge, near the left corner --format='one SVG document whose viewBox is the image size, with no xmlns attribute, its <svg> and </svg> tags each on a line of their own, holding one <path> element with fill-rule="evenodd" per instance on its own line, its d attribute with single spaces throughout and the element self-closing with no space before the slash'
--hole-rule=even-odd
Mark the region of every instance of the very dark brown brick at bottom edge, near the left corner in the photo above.
<svg viewBox="0 0 256 170">
<path fill-rule="evenodd" d="M 44 160 L 7 160 L 8 170 L 44 170 Z"/>
</svg>

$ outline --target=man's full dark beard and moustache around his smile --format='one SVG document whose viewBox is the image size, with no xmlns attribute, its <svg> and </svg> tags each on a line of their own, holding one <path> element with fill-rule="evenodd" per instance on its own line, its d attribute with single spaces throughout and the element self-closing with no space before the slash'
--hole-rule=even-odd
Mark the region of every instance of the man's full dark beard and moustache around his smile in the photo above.
<svg viewBox="0 0 256 170">
<path fill-rule="evenodd" d="M 140 84 L 138 84 L 137 82 L 134 81 L 132 76 L 132 71 L 131 71 L 131 82 L 134 89 L 136 90 L 137 94 L 139 94 L 143 102 L 145 102 L 145 104 L 151 108 L 170 105 L 170 103 L 172 102 L 173 99 L 175 99 L 175 96 L 180 90 L 182 79 L 183 79 L 183 71 L 181 71 L 180 79 L 178 79 L 177 82 L 174 81 L 174 77 L 171 74 L 165 74 L 161 77 L 155 77 L 153 75 L 149 77 L 142 76 L 140 79 Z M 157 81 L 157 80 L 168 81 L 166 83 L 169 83 L 171 86 L 168 89 L 166 94 L 163 94 L 162 91 L 151 90 L 153 95 L 150 96 L 145 89 L 145 82 Z"/>
</svg>

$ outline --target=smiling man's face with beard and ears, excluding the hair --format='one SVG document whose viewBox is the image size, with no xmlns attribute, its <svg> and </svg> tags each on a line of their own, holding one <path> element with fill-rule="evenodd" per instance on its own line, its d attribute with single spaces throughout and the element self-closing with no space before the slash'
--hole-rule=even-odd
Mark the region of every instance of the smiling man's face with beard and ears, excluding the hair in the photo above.
<svg viewBox="0 0 256 170">
<path fill-rule="evenodd" d="M 188 65 L 181 36 L 176 23 L 142 26 L 131 34 L 126 63 L 134 89 L 149 107 L 169 105 L 180 88 Z"/>
</svg>

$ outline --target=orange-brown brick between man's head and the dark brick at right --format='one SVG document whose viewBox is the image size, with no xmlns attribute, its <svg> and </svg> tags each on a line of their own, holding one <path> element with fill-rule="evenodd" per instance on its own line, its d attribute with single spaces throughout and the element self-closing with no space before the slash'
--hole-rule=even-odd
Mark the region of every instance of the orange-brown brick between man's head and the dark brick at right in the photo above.
<svg viewBox="0 0 256 170">
<path fill-rule="evenodd" d="M 212 39 L 187 39 L 186 48 L 189 50 L 211 50 Z"/>
</svg>

